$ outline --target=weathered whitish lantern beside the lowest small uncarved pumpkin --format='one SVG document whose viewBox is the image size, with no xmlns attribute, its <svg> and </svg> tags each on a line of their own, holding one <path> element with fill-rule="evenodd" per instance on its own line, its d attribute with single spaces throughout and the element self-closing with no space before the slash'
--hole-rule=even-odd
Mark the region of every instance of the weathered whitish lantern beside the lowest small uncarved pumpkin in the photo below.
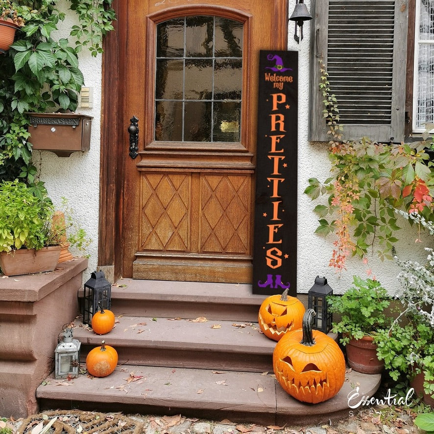
<svg viewBox="0 0 434 434">
<path fill-rule="evenodd" d="M 60 336 L 63 335 L 63 340 Z M 54 378 L 77 378 L 80 367 L 80 346 L 78 339 L 72 339 L 72 327 L 70 324 L 63 326 L 63 331 L 57 339 L 57 347 L 54 351 L 55 366 Z"/>
</svg>

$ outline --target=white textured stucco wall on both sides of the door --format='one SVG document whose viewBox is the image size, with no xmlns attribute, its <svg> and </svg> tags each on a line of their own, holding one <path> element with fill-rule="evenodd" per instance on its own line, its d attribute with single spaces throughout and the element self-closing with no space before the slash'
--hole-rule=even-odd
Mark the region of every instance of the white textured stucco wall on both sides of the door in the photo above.
<svg viewBox="0 0 434 434">
<path fill-rule="evenodd" d="M 289 11 L 293 10 L 295 2 L 289 0 Z M 310 1 L 306 4 L 310 9 Z M 62 3 L 66 10 L 66 3 Z M 71 16 L 71 11 L 69 12 Z M 71 21 L 66 20 L 66 25 Z M 375 253 L 368 258 L 368 264 L 363 264 L 359 258 L 347 261 L 347 270 L 336 273 L 328 266 L 333 250 L 333 237 L 324 239 L 314 234 L 318 225 L 313 207 L 318 202 L 312 202 L 303 193 L 310 177 L 324 180 L 329 176 L 330 163 L 327 157 L 327 144 L 308 142 L 309 125 L 309 33 L 310 25 L 304 25 L 304 39 L 297 44 L 293 39 L 294 26 L 289 23 L 289 50 L 299 52 L 299 106 L 298 106 L 298 261 L 297 261 L 297 291 L 307 292 L 313 285 L 317 274 L 326 276 L 329 285 L 335 293 L 341 293 L 349 288 L 352 276 L 358 274 L 366 277 L 366 270 L 372 273 L 387 288 L 393 289 L 399 285 L 396 275 L 399 268 L 392 261 L 381 262 Z M 65 30 L 59 32 L 65 36 Z M 46 182 L 48 193 L 55 203 L 60 197 L 69 199 L 79 224 L 86 229 L 94 240 L 89 248 L 91 255 L 89 269 L 91 272 L 97 265 L 98 238 L 98 193 L 99 193 L 99 149 L 100 149 L 100 110 L 101 110 L 101 56 L 92 57 L 88 51 L 80 53 L 80 69 L 84 74 L 85 86 L 94 88 L 93 109 L 80 109 L 79 112 L 93 116 L 91 148 L 89 151 L 75 152 L 68 158 L 57 157 L 51 152 L 34 152 L 33 161 L 39 168 L 41 180 Z M 417 231 L 410 228 L 404 219 L 400 219 L 401 230 L 396 244 L 398 254 L 402 259 L 412 259 L 424 262 L 424 247 L 433 246 L 434 237 L 422 235 L 422 242 L 415 243 Z M 85 273 L 85 277 L 88 275 Z"/>
</svg>

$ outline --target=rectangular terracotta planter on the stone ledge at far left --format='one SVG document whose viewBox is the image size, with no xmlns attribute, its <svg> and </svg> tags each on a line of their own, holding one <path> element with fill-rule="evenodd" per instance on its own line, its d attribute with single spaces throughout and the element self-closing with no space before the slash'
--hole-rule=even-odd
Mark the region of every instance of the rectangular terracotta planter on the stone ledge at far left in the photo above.
<svg viewBox="0 0 434 434">
<path fill-rule="evenodd" d="M 61 246 L 44 247 L 40 250 L 19 249 L 12 253 L 0 253 L 1 271 L 5 276 L 53 271 L 59 260 Z"/>
</svg>

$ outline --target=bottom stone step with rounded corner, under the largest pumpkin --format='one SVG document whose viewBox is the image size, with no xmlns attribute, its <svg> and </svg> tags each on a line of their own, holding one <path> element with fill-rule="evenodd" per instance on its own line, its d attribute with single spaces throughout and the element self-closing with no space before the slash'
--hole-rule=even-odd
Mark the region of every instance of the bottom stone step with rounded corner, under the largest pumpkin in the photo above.
<svg viewBox="0 0 434 434">
<path fill-rule="evenodd" d="M 128 382 L 130 378 L 133 381 Z M 105 378 L 80 375 L 68 382 L 51 375 L 36 396 L 41 410 L 73 405 L 83 410 L 182 413 L 233 422 L 315 424 L 348 415 L 348 393 L 354 385 L 360 385 L 361 396 L 371 396 L 380 380 L 380 374 L 351 371 L 335 397 L 312 405 L 290 397 L 272 373 L 118 365 Z"/>
</svg>

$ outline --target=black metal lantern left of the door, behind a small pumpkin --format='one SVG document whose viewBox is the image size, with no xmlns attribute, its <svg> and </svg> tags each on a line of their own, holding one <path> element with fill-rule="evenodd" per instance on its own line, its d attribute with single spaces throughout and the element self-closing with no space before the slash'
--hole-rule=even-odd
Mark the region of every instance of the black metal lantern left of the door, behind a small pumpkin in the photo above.
<svg viewBox="0 0 434 434">
<path fill-rule="evenodd" d="M 102 309 L 110 310 L 112 304 L 112 284 L 106 280 L 103 271 L 94 271 L 84 284 L 83 323 L 92 324 L 92 315 L 98 304 Z"/>
</svg>

